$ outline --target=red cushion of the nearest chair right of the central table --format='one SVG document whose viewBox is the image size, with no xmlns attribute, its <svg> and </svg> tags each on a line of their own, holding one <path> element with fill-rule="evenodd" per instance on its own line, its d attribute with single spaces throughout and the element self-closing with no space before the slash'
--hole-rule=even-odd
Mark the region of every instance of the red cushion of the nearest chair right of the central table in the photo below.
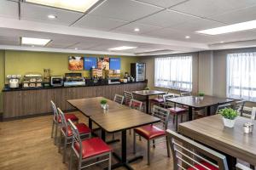
<svg viewBox="0 0 256 170">
<path fill-rule="evenodd" d="M 153 139 L 155 137 L 165 136 L 166 131 L 155 127 L 154 125 L 146 125 L 134 129 L 136 133 L 143 136 L 145 139 Z"/>
</svg>

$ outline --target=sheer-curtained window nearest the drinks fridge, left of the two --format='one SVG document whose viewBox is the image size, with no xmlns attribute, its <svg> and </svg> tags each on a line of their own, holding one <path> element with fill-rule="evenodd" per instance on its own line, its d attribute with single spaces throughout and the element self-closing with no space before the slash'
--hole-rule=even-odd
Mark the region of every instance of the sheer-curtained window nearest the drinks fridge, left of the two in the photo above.
<svg viewBox="0 0 256 170">
<path fill-rule="evenodd" d="M 192 90 L 192 56 L 154 59 L 154 86 Z"/>
</svg>

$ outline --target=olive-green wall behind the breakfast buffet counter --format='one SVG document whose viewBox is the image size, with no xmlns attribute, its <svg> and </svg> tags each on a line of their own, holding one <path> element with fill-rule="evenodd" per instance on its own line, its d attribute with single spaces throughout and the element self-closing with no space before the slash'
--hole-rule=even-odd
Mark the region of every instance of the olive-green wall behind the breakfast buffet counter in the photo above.
<svg viewBox="0 0 256 170">
<path fill-rule="evenodd" d="M 0 89 L 3 89 L 6 75 L 27 73 L 44 73 L 44 68 L 49 68 L 52 76 L 64 76 L 66 72 L 82 72 L 84 77 L 90 77 L 90 71 L 69 71 L 68 56 L 96 56 L 96 57 L 117 57 L 121 59 L 121 74 L 130 72 L 130 64 L 137 62 L 135 56 L 114 56 L 100 54 L 63 54 L 48 52 L 27 52 L 27 51 L 0 51 Z M 6 82 L 7 83 L 7 82 Z M 0 113 L 3 112 L 3 95 L 0 93 Z"/>
</svg>

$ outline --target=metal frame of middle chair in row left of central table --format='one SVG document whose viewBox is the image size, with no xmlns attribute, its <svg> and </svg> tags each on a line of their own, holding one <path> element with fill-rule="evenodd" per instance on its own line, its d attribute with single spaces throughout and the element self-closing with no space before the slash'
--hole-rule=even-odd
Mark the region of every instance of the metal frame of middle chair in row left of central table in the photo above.
<svg viewBox="0 0 256 170">
<path fill-rule="evenodd" d="M 59 112 L 59 115 L 61 116 L 61 137 L 60 137 L 60 141 L 59 141 L 59 152 L 61 152 L 61 139 L 62 139 L 62 137 L 64 137 L 62 162 L 65 163 L 66 156 L 67 156 L 67 144 L 72 143 L 72 141 L 69 141 L 69 140 L 71 140 L 73 138 L 73 135 L 72 136 L 67 135 L 68 125 L 67 125 L 67 121 L 65 119 L 64 113 L 61 111 L 60 108 L 58 108 L 57 110 Z M 66 129 L 66 131 L 63 130 L 63 127 Z M 84 136 L 88 136 L 88 138 L 91 137 L 91 133 L 81 133 L 79 135 L 80 135 L 80 137 L 84 137 Z"/>
</svg>

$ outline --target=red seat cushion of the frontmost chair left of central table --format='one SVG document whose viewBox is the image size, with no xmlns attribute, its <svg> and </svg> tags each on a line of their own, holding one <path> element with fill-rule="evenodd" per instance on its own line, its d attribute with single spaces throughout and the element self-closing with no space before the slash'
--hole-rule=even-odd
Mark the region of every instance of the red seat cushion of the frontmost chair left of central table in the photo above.
<svg viewBox="0 0 256 170">
<path fill-rule="evenodd" d="M 75 150 L 79 153 L 79 143 L 74 144 Z M 100 138 L 85 139 L 82 141 L 82 158 L 97 156 L 111 151 L 111 148 Z"/>
</svg>

